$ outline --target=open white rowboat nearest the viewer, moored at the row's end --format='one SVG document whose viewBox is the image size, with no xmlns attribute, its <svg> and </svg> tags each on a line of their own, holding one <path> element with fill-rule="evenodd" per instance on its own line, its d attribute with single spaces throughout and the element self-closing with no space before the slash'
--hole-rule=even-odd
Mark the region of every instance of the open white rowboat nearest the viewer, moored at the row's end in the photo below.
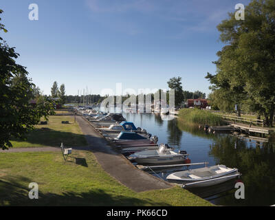
<svg viewBox="0 0 275 220">
<path fill-rule="evenodd" d="M 168 175 L 166 179 L 168 179 L 168 181 L 183 184 L 184 188 L 187 188 L 213 186 L 239 177 L 240 175 L 237 168 L 217 165 L 172 173 Z"/>
</svg>

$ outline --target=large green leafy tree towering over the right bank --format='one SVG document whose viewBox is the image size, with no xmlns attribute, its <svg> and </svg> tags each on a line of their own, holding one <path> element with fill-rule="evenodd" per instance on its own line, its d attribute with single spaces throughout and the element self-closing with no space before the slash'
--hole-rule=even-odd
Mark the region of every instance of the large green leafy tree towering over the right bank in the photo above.
<svg viewBox="0 0 275 220">
<path fill-rule="evenodd" d="M 212 90 L 223 98 L 265 116 L 272 126 L 275 109 L 275 1 L 254 0 L 245 20 L 234 13 L 218 25 L 226 45 L 217 53 L 217 74 L 208 74 Z M 240 109 L 238 109 L 240 111 Z"/>
</svg>

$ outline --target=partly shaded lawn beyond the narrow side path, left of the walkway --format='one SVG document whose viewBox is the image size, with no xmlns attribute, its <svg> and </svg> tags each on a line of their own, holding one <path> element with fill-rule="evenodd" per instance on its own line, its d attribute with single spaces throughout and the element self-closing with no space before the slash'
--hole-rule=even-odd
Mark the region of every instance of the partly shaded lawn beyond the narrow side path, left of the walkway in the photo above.
<svg viewBox="0 0 275 220">
<path fill-rule="evenodd" d="M 69 124 L 62 124 L 62 121 L 69 121 Z M 12 140 L 12 146 L 36 147 L 36 146 L 60 146 L 61 142 L 65 146 L 85 146 L 87 145 L 74 117 L 69 115 L 50 116 L 47 124 L 37 124 L 34 131 L 27 135 L 27 140 Z"/>
</svg>

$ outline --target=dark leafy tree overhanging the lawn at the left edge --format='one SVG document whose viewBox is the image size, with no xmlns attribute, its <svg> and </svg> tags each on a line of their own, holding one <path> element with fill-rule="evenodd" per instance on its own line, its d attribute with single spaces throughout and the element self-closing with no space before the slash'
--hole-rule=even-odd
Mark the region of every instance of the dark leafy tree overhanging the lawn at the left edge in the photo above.
<svg viewBox="0 0 275 220">
<path fill-rule="evenodd" d="M 0 14 L 2 12 L 0 10 Z M 0 23 L 0 31 L 7 32 L 4 27 Z M 53 109 L 47 98 L 41 98 L 36 104 L 30 102 L 35 98 L 35 85 L 25 67 L 14 61 L 18 56 L 14 47 L 9 47 L 0 37 L 0 148 L 3 149 L 12 146 L 12 137 L 25 137 L 25 133 L 33 129 L 42 116 L 47 118 Z"/>
</svg>

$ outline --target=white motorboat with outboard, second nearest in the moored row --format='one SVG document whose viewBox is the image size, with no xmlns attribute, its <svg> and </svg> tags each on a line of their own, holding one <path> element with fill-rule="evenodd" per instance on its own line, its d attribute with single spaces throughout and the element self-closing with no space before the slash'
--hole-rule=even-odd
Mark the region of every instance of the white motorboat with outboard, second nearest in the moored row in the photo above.
<svg viewBox="0 0 275 220">
<path fill-rule="evenodd" d="M 160 144 L 157 150 L 140 151 L 129 156 L 137 164 L 184 164 L 186 151 L 175 153 L 168 144 Z"/>
</svg>

